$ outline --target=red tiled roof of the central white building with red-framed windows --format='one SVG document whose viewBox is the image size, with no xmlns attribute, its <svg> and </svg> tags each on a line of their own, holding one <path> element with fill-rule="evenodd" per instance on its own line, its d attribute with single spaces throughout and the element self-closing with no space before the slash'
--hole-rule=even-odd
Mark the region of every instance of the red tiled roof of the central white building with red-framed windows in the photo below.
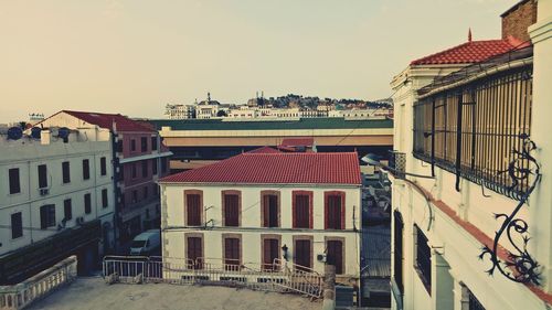
<svg viewBox="0 0 552 310">
<path fill-rule="evenodd" d="M 161 183 L 360 184 L 357 152 L 243 153 Z"/>
</svg>

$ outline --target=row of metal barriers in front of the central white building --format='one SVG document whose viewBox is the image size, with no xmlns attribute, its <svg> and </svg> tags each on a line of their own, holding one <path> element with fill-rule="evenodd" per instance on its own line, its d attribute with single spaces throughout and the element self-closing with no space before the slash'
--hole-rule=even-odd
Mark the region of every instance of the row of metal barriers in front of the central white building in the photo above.
<svg viewBox="0 0 552 310">
<path fill-rule="evenodd" d="M 282 259 L 259 264 L 208 257 L 106 256 L 103 275 L 108 282 L 216 285 L 296 292 L 314 298 L 321 297 L 323 282 L 323 276 L 314 269 Z"/>
</svg>

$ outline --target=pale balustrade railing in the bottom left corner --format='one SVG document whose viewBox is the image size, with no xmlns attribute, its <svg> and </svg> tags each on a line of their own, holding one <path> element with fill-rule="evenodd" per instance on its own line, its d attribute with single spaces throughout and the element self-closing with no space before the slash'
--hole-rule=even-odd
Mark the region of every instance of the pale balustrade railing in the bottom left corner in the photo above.
<svg viewBox="0 0 552 310">
<path fill-rule="evenodd" d="M 76 278 L 76 257 L 71 256 L 53 267 L 13 286 L 0 287 L 0 309 L 23 309 Z"/>
</svg>

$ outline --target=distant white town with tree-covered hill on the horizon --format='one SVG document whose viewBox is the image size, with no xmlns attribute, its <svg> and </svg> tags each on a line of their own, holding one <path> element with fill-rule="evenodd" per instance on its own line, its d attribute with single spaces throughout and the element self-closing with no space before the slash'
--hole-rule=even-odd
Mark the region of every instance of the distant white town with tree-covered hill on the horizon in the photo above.
<svg viewBox="0 0 552 310">
<path fill-rule="evenodd" d="M 252 118 L 306 118 L 306 117 L 344 117 L 344 118 L 392 118 L 393 101 L 391 98 L 380 100 L 332 99 L 304 97 L 289 94 L 265 98 L 256 95 L 244 105 L 222 104 L 211 98 L 190 105 L 166 106 L 164 116 L 169 119 L 224 118 L 225 120 L 243 120 Z"/>
</svg>

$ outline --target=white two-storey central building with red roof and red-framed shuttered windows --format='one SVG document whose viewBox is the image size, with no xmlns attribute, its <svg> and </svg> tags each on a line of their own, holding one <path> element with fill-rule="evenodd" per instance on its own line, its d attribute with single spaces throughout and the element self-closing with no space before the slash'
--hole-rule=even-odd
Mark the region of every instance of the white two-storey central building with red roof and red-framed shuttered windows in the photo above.
<svg viewBox="0 0 552 310">
<path fill-rule="evenodd" d="M 247 152 L 159 184 L 164 259 L 264 268 L 282 259 L 320 274 L 332 264 L 338 281 L 359 279 L 355 152 Z"/>
</svg>

